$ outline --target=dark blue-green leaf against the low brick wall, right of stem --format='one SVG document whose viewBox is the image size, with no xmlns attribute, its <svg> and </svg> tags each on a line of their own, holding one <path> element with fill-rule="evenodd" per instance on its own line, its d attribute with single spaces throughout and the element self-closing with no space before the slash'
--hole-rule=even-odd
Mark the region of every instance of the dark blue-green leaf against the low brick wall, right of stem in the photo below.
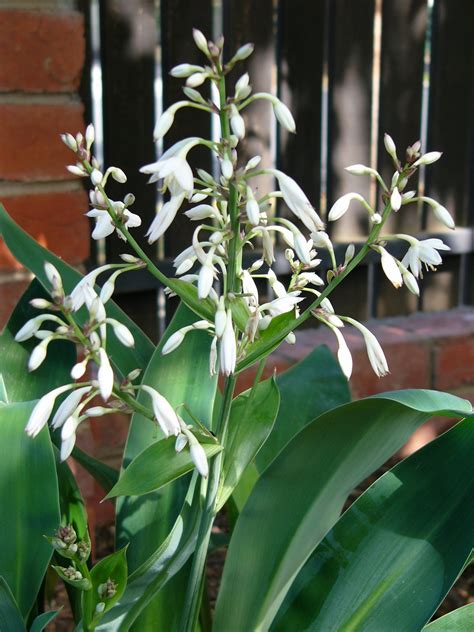
<svg viewBox="0 0 474 632">
<path fill-rule="evenodd" d="M 276 381 L 280 409 L 273 430 L 257 455 L 260 472 L 306 424 L 351 399 L 347 379 L 326 346 L 313 349 L 301 362 L 278 375 Z"/>
</svg>

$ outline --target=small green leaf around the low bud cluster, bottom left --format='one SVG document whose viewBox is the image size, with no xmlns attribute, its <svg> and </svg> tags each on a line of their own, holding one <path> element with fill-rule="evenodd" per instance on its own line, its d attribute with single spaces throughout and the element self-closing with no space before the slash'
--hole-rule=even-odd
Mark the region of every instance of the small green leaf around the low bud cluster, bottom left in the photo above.
<svg viewBox="0 0 474 632">
<path fill-rule="evenodd" d="M 100 560 L 91 570 L 92 581 L 92 600 L 91 600 L 91 613 L 95 612 L 95 608 L 98 603 L 105 604 L 103 612 L 107 612 L 118 602 L 123 595 L 127 586 L 127 556 L 126 547 L 120 551 L 116 551 L 111 555 L 108 555 L 103 560 Z M 115 584 L 115 593 L 107 597 L 100 594 L 100 590 L 103 585 L 112 580 Z"/>
</svg>

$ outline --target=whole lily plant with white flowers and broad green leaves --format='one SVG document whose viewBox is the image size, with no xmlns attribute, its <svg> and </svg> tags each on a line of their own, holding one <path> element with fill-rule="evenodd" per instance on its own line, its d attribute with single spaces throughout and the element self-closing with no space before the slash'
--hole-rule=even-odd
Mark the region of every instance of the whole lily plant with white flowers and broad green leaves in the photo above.
<svg viewBox="0 0 474 632">
<path fill-rule="evenodd" d="M 225 61 L 222 39 L 208 41 L 198 30 L 193 36 L 203 65 L 171 70 L 184 80 L 184 97 L 163 112 L 155 140 L 179 126 L 183 108 L 213 117 L 218 140 L 184 138 L 141 169 L 164 200 L 148 241 L 160 239 L 181 213 L 195 226 L 174 259 L 173 278 L 135 239 L 142 220 L 131 210 L 133 194 L 109 197 L 109 180 L 125 184 L 127 177 L 94 157 L 92 125 L 62 140 L 74 154 L 69 171 L 91 186 L 92 237 L 116 233 L 120 261 L 81 276 L 1 209 L 6 244 L 36 277 L 2 336 L 0 470 L 11 483 L 1 491 L 3 507 L 21 498 L 3 527 L 2 616 L 8 629 L 43 629 L 56 615 L 42 611 L 56 573 L 76 630 L 447 629 L 429 622 L 474 545 L 471 405 L 426 390 L 350 402 L 348 329 L 363 336 L 379 377 L 389 367 L 374 334 L 331 303 L 333 290 L 370 252 L 395 289 L 416 295 L 424 272 L 441 264 L 440 253 L 449 250 L 441 239 L 384 230 L 392 213 L 416 212 L 421 203 L 454 228 L 446 208 L 410 189 L 418 168 L 441 154 L 421 153 L 416 142 L 402 157 L 385 135 L 390 182 L 362 164 L 347 168 L 375 179 L 381 195 L 373 206 L 348 193 L 330 209 L 329 222 L 355 205 L 367 213 L 365 243 L 349 245 L 338 261 L 299 184 L 261 165 L 259 156 L 239 156 L 244 113 L 257 100 L 268 101 L 279 125 L 295 132 L 286 105 L 253 93 L 249 75 L 239 76 L 253 46 Z M 198 146 L 210 152 L 213 174 L 189 164 Z M 264 176 L 270 192 L 261 195 L 255 179 Z M 276 205 L 286 213 L 276 214 Z M 391 254 L 395 240 L 406 244 L 401 260 Z M 281 278 L 276 243 L 287 262 Z M 326 272 L 323 250 L 331 262 Z M 119 276 L 144 269 L 181 299 L 157 347 L 112 300 Z M 320 347 L 264 379 L 269 354 L 294 344 L 310 319 L 336 337 L 337 362 Z M 249 367 L 253 385 L 236 395 L 237 377 Z M 84 422 L 106 425 L 109 415 L 124 412 L 132 421 L 118 472 L 75 443 Z M 341 515 L 351 490 L 439 414 L 462 420 L 378 478 Z M 71 455 L 116 503 L 116 551 L 96 564 Z M 226 555 L 214 601 L 206 561 L 216 549 Z"/>
</svg>

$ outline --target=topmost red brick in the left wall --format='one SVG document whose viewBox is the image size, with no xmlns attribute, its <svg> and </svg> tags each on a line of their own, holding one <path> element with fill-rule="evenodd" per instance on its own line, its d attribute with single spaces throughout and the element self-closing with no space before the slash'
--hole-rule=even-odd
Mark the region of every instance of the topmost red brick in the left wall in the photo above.
<svg viewBox="0 0 474 632">
<path fill-rule="evenodd" d="M 84 53 L 80 13 L 0 12 L 0 91 L 74 91 Z"/>
</svg>

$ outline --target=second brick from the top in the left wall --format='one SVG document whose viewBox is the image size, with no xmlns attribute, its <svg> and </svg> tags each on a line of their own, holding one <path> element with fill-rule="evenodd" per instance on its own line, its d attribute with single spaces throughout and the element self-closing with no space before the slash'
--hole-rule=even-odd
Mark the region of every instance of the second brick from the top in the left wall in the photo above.
<svg viewBox="0 0 474 632">
<path fill-rule="evenodd" d="M 0 179 L 66 180 L 74 155 L 62 132 L 83 130 L 81 103 L 0 103 Z"/>
</svg>

